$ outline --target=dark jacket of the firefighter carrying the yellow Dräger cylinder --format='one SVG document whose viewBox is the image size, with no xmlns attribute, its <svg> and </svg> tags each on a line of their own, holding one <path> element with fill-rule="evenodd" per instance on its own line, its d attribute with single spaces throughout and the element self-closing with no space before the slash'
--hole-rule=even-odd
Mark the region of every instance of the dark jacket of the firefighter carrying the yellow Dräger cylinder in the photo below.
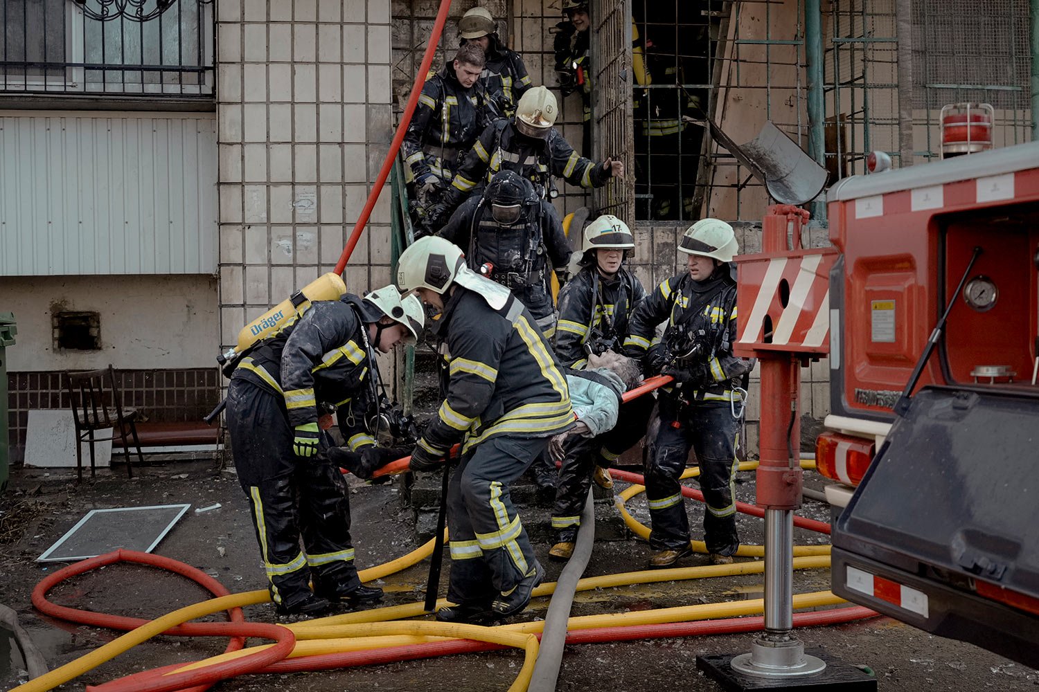
<svg viewBox="0 0 1039 692">
<path fill-rule="evenodd" d="M 254 349 L 231 377 L 284 396 L 293 427 L 316 422 L 319 406 L 336 407 L 340 432 L 351 449 L 375 444 L 364 422 L 375 405 L 371 378 L 378 377 L 362 331 L 364 321 L 378 321 L 370 310 L 351 295 L 316 301 Z"/>
</svg>

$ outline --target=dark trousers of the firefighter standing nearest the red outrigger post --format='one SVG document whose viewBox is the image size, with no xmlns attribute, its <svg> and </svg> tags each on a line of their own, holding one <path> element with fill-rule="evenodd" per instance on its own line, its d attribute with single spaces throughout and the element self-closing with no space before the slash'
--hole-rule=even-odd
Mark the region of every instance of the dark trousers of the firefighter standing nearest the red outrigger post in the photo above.
<svg viewBox="0 0 1039 692">
<path fill-rule="evenodd" d="M 652 548 L 680 550 L 689 545 L 689 517 L 678 478 L 686 469 L 690 449 L 696 452 L 700 468 L 708 551 L 731 555 L 740 547 L 734 492 L 738 435 L 739 421 L 732 418 L 727 404 L 685 406 L 676 411 L 672 399 L 661 397 L 660 432 L 645 469 Z"/>
</svg>

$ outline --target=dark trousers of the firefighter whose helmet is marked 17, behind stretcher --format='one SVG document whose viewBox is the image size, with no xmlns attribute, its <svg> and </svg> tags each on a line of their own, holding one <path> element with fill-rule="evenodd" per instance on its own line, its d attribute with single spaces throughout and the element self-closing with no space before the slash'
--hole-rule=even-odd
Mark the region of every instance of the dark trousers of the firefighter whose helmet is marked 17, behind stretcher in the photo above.
<svg viewBox="0 0 1039 692">
<path fill-rule="evenodd" d="M 557 541 L 577 538 L 593 468 L 610 468 L 620 454 L 642 439 L 655 404 L 652 396 L 638 396 L 620 406 L 618 422 L 613 430 L 593 438 L 576 435 L 566 438 L 563 465 L 556 482 L 556 503 L 552 508 L 552 528 L 556 529 Z"/>
</svg>

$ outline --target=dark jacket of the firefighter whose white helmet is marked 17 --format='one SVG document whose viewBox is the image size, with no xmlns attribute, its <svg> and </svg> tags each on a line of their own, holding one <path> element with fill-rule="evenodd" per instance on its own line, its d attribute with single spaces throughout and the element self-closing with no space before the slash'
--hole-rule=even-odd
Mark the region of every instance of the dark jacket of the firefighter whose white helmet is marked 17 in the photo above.
<svg viewBox="0 0 1039 692">
<path fill-rule="evenodd" d="M 581 369 L 588 362 L 584 344 L 595 339 L 609 341 L 609 349 L 620 353 L 629 319 L 645 296 L 642 282 L 623 267 L 609 281 L 594 266 L 578 272 L 559 292 L 555 340 L 559 361 Z"/>
</svg>

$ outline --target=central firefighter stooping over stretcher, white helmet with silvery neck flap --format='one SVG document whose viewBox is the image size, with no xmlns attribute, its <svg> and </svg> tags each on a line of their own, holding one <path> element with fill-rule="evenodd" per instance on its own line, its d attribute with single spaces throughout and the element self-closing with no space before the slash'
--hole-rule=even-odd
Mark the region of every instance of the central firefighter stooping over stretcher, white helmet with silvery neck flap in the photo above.
<svg viewBox="0 0 1039 692">
<path fill-rule="evenodd" d="M 411 452 L 411 469 L 441 468 L 461 443 L 447 498 L 454 605 L 436 617 L 507 617 L 527 607 L 544 574 L 509 486 L 572 424 L 566 380 L 530 310 L 465 267 L 449 241 L 423 238 L 408 247 L 397 285 L 439 312 L 432 330 L 450 358 L 447 396 Z"/>
</svg>

